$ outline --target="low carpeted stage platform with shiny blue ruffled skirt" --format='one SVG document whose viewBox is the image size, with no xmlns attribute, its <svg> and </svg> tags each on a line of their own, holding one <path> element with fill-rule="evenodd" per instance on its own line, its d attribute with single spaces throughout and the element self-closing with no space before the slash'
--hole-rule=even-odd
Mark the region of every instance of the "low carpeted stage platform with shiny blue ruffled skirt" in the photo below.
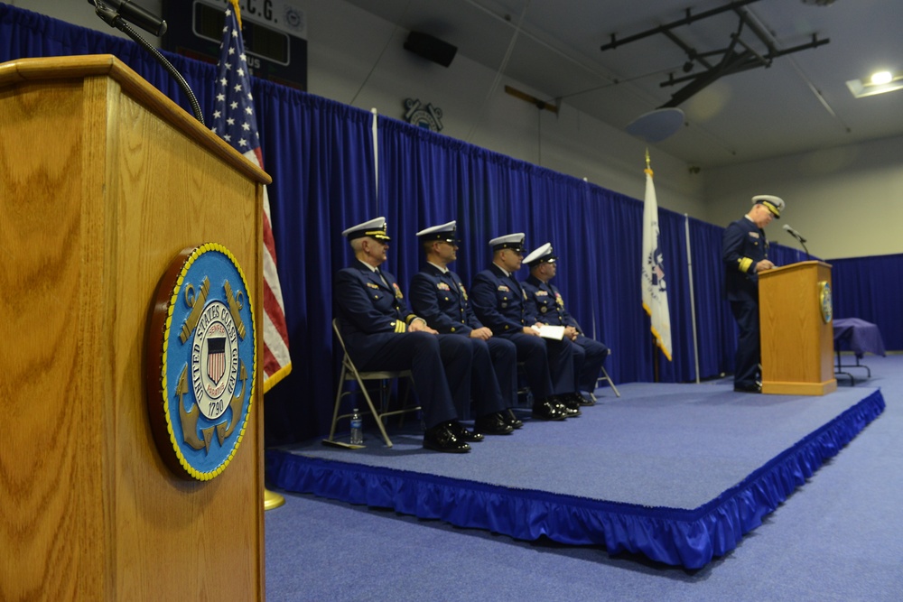
<svg viewBox="0 0 903 602">
<path fill-rule="evenodd" d="M 270 486 L 518 539 L 601 545 L 699 569 L 805 484 L 884 410 L 880 389 L 822 397 L 713 384 L 624 384 L 582 416 L 471 444 L 421 447 L 376 429 L 365 449 L 320 440 L 266 452 Z M 608 390 L 600 389 L 600 394 Z"/>
</svg>

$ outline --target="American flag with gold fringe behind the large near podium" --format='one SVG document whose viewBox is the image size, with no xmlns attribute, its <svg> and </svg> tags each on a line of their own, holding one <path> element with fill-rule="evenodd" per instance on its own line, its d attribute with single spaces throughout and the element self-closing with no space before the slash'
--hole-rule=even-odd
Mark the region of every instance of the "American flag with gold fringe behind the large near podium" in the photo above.
<svg viewBox="0 0 903 602">
<path fill-rule="evenodd" d="M 247 73 L 245 42 L 241 38 L 238 0 L 229 0 L 226 25 L 219 45 L 219 76 L 210 128 L 250 161 L 264 167 L 260 135 Z M 257 300 L 259 303 L 260 300 Z M 292 371 L 288 353 L 288 329 L 279 274 L 276 272 L 275 241 L 270 225 L 270 199 L 264 187 L 264 393 Z"/>
</svg>

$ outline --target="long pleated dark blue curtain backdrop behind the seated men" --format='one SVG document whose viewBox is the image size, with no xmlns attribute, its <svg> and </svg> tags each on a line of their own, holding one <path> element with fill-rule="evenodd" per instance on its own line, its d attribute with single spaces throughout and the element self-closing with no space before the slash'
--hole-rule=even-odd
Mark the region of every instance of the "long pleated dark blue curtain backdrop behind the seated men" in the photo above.
<svg viewBox="0 0 903 602">
<path fill-rule="evenodd" d="M 0 4 L 0 61 L 98 53 L 116 55 L 190 112 L 175 82 L 135 43 Z M 166 56 L 209 118 L 215 67 Z M 405 289 L 422 261 L 414 233 L 423 227 L 458 220 L 461 252 L 453 267 L 464 282 L 489 264 L 493 236 L 525 232 L 528 249 L 551 242 L 561 261 L 556 284 L 583 328 L 613 349 L 614 380 L 653 379 L 656 352 L 640 298 L 641 201 L 384 116 L 378 117 L 377 187 L 374 116 L 260 79 L 252 86 L 265 170 L 273 177 L 270 202 L 293 360 L 292 375 L 266 395 L 268 445 L 329 430 L 338 375 L 332 274 L 352 259 L 340 232 L 377 216 L 388 219 L 393 237 L 386 269 Z M 638 157 L 638 190 L 644 167 Z M 659 357 L 665 382 L 696 378 L 685 222 L 659 210 L 674 341 L 674 362 Z M 689 226 L 699 376 L 709 378 L 731 372 L 736 343 L 730 309 L 721 300 L 723 228 L 693 218 Z M 805 259 L 781 245 L 772 245 L 772 256 L 777 264 Z M 875 321 L 888 348 L 903 348 L 894 313 L 899 291 L 888 288 L 888 276 L 899 275 L 903 259 L 865 259 L 870 267 L 864 271 L 858 260 L 838 262 L 836 315 Z M 526 270 L 520 275 L 526 278 Z"/>
</svg>

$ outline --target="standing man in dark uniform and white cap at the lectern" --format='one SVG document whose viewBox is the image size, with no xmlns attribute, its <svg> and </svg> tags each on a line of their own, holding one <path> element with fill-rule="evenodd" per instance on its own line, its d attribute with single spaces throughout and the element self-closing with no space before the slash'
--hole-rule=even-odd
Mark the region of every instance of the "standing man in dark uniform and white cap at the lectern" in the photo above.
<svg viewBox="0 0 903 602">
<path fill-rule="evenodd" d="M 780 219 L 784 201 L 768 194 L 752 198 L 752 208 L 743 218 L 724 230 L 721 258 L 724 261 L 724 294 L 731 301 L 731 312 L 740 336 L 734 356 L 734 391 L 761 393 L 759 373 L 759 272 L 775 266 L 768 259 L 765 227 Z"/>
</svg>

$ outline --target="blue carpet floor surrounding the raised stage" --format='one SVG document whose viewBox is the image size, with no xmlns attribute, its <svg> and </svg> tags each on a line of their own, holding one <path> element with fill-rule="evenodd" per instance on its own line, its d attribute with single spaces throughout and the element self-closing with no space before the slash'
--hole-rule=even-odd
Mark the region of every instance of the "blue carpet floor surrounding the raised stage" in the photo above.
<svg viewBox="0 0 903 602">
<path fill-rule="evenodd" d="M 903 356 L 865 363 L 872 378 L 854 388 L 880 387 L 885 412 L 703 569 L 279 490 L 285 505 L 265 514 L 266 600 L 898 602 Z"/>
</svg>

